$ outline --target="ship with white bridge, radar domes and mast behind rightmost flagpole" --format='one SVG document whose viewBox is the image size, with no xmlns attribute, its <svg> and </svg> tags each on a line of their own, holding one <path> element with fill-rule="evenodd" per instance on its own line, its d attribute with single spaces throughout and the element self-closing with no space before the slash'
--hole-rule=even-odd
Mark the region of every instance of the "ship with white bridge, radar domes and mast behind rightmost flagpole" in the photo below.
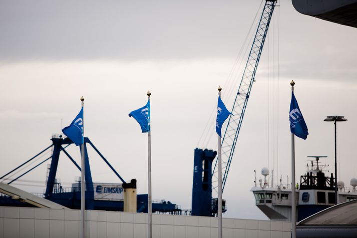
<svg viewBox="0 0 357 238">
<path fill-rule="evenodd" d="M 310 166 L 306 164 L 306 172 L 300 176 L 300 182 L 296 184 L 296 219 L 300 221 L 316 212 L 335 205 L 335 182 L 333 173 L 325 175 L 326 165 L 319 164 L 319 157 L 310 160 Z M 259 185 L 254 181 L 250 189 L 255 198 L 255 205 L 270 219 L 291 221 L 291 185 L 281 182 L 269 186 L 269 169 L 261 170 L 264 180 L 259 179 Z M 271 178 L 272 180 L 272 178 Z M 351 187 L 344 187 L 344 182 L 337 182 L 337 203 L 357 199 L 357 178 L 350 179 Z"/>
</svg>

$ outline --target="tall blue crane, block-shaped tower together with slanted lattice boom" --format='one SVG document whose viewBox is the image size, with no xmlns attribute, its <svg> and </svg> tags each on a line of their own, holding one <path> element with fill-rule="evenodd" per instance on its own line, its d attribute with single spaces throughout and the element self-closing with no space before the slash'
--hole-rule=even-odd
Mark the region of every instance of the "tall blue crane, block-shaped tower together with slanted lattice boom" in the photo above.
<svg viewBox="0 0 357 238">
<path fill-rule="evenodd" d="M 235 146 L 237 144 L 239 130 L 242 125 L 250 91 L 253 82 L 255 81 L 255 73 L 258 68 L 260 55 L 264 46 L 264 41 L 268 32 L 276 1 L 277 0 L 265 0 L 263 12 L 260 16 L 258 28 L 254 36 L 243 76 L 233 102 L 233 115 L 229 116 L 227 127 L 222 138 L 222 190 L 224 190 L 224 186 L 227 181 L 229 167 L 232 162 Z M 205 154 L 209 154 L 209 156 L 206 156 Z M 216 153 L 214 156 L 215 155 Z M 211 168 L 207 168 L 207 166 L 211 165 L 213 158 L 212 150 L 195 149 L 192 190 L 193 215 L 214 215 L 214 213 L 216 213 L 217 206 L 215 205 L 215 202 L 212 203 L 212 191 L 218 195 L 217 160 L 213 168 L 212 176 L 210 177 L 211 180 L 207 178 L 207 173 L 211 171 Z M 211 190 L 206 189 L 209 185 L 212 187 Z"/>
</svg>

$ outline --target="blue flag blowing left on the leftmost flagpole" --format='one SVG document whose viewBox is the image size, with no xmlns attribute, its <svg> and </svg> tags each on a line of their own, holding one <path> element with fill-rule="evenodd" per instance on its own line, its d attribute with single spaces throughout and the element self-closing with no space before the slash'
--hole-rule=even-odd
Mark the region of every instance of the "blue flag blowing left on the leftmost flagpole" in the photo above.
<svg viewBox="0 0 357 238">
<path fill-rule="evenodd" d="M 76 145 L 83 144 L 83 107 L 71 124 L 62 129 L 62 132 Z"/>
</svg>

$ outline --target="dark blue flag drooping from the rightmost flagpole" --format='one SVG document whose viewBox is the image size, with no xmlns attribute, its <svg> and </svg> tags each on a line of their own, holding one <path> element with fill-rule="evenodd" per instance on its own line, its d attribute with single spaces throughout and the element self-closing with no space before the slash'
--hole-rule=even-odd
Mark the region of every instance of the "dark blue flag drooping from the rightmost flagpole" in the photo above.
<svg viewBox="0 0 357 238">
<path fill-rule="evenodd" d="M 297 104 L 294 92 L 291 92 L 291 102 L 290 102 L 290 131 L 297 137 L 306 139 L 308 135 L 307 125 L 305 123 L 304 117 L 300 111 L 299 105 Z"/>
</svg>

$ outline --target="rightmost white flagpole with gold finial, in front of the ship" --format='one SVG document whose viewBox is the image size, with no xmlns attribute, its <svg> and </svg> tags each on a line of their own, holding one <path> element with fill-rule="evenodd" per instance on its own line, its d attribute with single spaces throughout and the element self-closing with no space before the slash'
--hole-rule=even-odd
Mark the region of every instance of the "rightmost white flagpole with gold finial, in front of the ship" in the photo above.
<svg viewBox="0 0 357 238">
<path fill-rule="evenodd" d="M 295 82 L 291 80 L 291 91 Z M 296 238 L 296 198 L 295 198 L 295 137 L 291 133 L 291 238 Z"/>
</svg>

